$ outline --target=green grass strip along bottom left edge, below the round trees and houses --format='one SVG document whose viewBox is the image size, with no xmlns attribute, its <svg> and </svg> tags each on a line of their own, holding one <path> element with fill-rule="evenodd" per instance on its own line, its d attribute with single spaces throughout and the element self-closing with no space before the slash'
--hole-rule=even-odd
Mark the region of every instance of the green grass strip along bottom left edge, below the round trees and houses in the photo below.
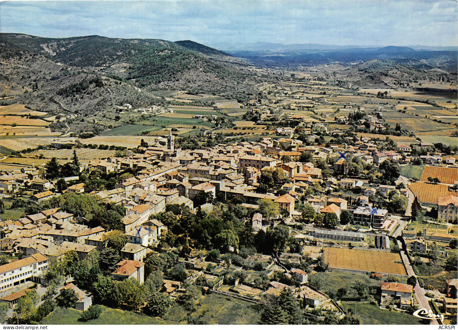
<svg viewBox="0 0 458 330">
<path fill-rule="evenodd" d="M 81 322 L 82 312 L 73 308 L 57 307 L 54 312 L 41 320 L 42 325 L 171 325 L 175 322 L 151 318 L 134 312 L 103 307 L 100 317 Z"/>
</svg>

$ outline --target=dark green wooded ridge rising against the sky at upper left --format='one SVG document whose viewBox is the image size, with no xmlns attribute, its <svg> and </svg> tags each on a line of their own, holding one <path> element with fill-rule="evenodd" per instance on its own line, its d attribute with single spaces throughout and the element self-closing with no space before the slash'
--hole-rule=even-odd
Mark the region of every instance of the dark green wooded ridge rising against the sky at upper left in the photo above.
<svg viewBox="0 0 458 330">
<path fill-rule="evenodd" d="M 16 33 L 1 33 L 0 40 L 4 60 L 30 54 L 41 55 L 56 63 L 114 74 L 132 80 L 139 87 L 167 82 L 181 87 L 186 82 L 196 82 L 196 85 L 208 90 L 221 85 L 222 79 L 229 84 L 245 80 L 245 75 L 234 66 L 208 56 L 210 53 L 217 54 L 218 50 L 193 42 L 185 42 L 185 46 L 181 46 L 159 39 L 97 35 L 41 38 Z M 218 55 L 224 53 L 219 52 Z"/>
</svg>

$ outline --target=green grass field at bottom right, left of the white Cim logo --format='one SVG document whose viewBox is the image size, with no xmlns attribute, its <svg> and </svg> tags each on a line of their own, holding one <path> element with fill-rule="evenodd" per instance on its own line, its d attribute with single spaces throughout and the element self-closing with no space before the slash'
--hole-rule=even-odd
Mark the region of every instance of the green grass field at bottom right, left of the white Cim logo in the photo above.
<svg viewBox="0 0 458 330">
<path fill-rule="evenodd" d="M 342 303 L 346 312 L 351 309 L 354 315 L 354 303 Z M 356 317 L 364 325 L 420 325 L 420 319 L 413 315 L 380 309 L 370 303 L 356 304 Z"/>
</svg>

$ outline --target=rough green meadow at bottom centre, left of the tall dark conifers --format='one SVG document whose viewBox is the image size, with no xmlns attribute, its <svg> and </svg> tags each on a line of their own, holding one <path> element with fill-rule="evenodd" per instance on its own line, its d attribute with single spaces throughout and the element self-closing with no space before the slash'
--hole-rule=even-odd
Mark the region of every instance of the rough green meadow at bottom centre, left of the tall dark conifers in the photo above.
<svg viewBox="0 0 458 330">
<path fill-rule="evenodd" d="M 202 316 L 202 320 L 208 324 L 256 325 L 261 316 L 258 308 L 259 306 L 254 303 L 212 293 L 199 300 L 199 305 L 196 306 L 196 311 L 192 312 L 191 316 L 194 318 Z M 188 313 L 185 308 L 175 304 L 163 319 L 180 322 Z"/>
</svg>

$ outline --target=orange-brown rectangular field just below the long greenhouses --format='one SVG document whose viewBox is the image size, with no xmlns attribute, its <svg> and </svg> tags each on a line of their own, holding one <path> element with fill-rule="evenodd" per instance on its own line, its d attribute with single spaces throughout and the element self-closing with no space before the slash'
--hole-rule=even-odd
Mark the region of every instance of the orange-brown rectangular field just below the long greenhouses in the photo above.
<svg viewBox="0 0 458 330">
<path fill-rule="evenodd" d="M 407 275 L 398 253 L 325 247 L 324 261 L 331 268 Z"/>
</svg>

